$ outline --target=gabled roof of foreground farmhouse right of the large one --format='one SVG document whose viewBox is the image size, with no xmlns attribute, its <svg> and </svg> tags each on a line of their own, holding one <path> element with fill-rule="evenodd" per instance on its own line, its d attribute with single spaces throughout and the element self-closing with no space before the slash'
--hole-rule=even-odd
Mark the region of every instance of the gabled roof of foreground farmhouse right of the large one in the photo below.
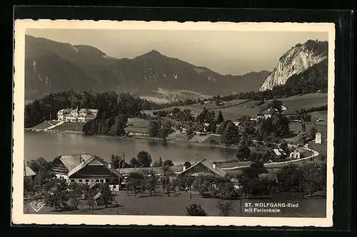
<svg viewBox="0 0 357 237">
<path fill-rule="evenodd" d="M 223 171 L 221 168 L 216 166 L 216 163 L 211 163 L 206 159 L 199 161 L 198 163 L 193 164 L 189 168 L 183 166 L 183 171 L 178 173 L 178 176 L 189 175 L 189 176 L 197 176 L 198 173 L 209 173 L 216 176 L 224 177 L 226 176 L 226 171 Z"/>
</svg>

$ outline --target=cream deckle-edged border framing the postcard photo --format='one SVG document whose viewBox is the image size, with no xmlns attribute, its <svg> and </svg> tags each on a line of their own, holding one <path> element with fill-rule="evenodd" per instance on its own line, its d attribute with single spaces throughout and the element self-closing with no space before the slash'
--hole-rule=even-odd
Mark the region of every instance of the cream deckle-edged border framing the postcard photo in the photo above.
<svg viewBox="0 0 357 237">
<path fill-rule="evenodd" d="M 26 29 L 146 29 L 192 31 L 315 31 L 328 32 L 328 157 L 326 218 L 277 217 L 194 217 L 194 216 L 121 216 L 121 215 L 39 215 L 24 214 L 24 39 Z M 333 23 L 231 23 L 176 21 L 79 21 L 21 19 L 15 21 L 14 47 L 14 153 L 13 208 L 14 224 L 89 224 L 89 225 L 176 225 L 176 226 L 318 226 L 333 224 L 333 137 L 334 137 L 334 51 Z"/>
</svg>

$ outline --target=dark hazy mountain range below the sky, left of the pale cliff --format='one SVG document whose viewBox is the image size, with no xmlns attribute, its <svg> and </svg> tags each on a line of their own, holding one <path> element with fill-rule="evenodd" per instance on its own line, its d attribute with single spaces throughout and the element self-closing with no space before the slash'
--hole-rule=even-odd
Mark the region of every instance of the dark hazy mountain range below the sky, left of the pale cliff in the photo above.
<svg viewBox="0 0 357 237">
<path fill-rule="evenodd" d="M 134 59 L 116 59 L 93 46 L 29 35 L 25 39 L 25 99 L 29 100 L 71 89 L 126 91 L 164 99 L 236 94 L 258 91 L 270 74 L 221 75 L 156 50 Z"/>
</svg>

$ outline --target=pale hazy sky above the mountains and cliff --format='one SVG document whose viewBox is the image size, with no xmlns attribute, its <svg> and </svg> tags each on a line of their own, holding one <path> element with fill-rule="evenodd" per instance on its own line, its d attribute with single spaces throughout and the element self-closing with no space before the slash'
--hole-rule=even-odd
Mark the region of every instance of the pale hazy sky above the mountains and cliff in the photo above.
<svg viewBox="0 0 357 237">
<path fill-rule="evenodd" d="M 119 59 L 133 59 L 154 49 L 223 75 L 273 71 L 278 59 L 296 44 L 308 39 L 328 40 L 327 32 L 301 31 L 26 29 L 26 34 L 94 46 Z"/>
</svg>

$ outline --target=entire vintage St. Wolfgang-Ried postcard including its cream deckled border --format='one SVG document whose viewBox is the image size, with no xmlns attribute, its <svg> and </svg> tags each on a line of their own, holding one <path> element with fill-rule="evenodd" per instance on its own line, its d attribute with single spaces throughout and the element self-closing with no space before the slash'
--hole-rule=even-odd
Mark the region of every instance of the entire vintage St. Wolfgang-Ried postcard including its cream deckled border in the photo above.
<svg viewBox="0 0 357 237">
<path fill-rule="evenodd" d="M 332 226 L 335 26 L 16 20 L 14 224 Z"/>
</svg>

